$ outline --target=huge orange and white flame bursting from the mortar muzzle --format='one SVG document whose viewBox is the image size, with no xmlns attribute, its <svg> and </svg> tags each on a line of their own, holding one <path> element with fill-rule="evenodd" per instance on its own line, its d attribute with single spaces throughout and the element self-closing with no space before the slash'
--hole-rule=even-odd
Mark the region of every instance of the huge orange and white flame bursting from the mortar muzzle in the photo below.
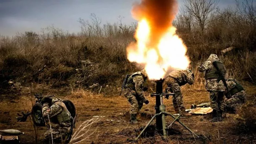
<svg viewBox="0 0 256 144">
<path fill-rule="evenodd" d="M 171 23 L 176 4 L 176 0 L 142 0 L 132 10 L 138 20 L 137 42 L 127 47 L 127 58 L 144 64 L 151 80 L 165 78 L 171 70 L 186 69 L 190 64 L 187 47 Z"/>
</svg>

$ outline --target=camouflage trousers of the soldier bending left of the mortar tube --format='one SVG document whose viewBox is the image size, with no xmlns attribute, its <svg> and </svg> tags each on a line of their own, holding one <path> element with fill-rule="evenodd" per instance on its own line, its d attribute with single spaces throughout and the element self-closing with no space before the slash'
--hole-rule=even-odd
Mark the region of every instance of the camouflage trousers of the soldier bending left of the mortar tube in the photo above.
<svg viewBox="0 0 256 144">
<path fill-rule="evenodd" d="M 129 113 L 138 113 L 143 106 L 143 101 L 137 96 L 134 90 L 124 89 L 123 93 L 124 96 L 127 98 L 128 102 L 131 104 Z"/>
</svg>

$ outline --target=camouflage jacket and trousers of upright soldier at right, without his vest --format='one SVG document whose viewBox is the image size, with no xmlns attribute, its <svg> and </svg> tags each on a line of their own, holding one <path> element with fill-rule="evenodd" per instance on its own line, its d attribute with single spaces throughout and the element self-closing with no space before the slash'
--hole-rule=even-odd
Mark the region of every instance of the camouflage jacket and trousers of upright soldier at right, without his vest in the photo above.
<svg viewBox="0 0 256 144">
<path fill-rule="evenodd" d="M 225 91 L 225 86 L 223 84 L 223 81 L 220 80 L 219 82 L 217 81 L 218 78 L 213 78 L 213 77 L 218 77 L 218 74 L 213 73 L 215 71 L 215 67 L 213 65 L 213 62 L 217 61 L 220 63 L 222 68 L 222 72 L 224 75 L 226 74 L 226 69 L 225 66 L 220 62 L 219 58 L 217 57 L 216 54 L 210 54 L 209 58 L 207 59 L 206 62 L 198 66 L 198 71 L 203 72 L 206 71 L 206 89 L 209 91 L 210 95 L 210 107 L 214 110 L 216 113 L 222 113 L 224 111 L 224 91 Z M 208 76 L 208 74 L 212 74 L 212 78 L 209 78 L 211 76 Z"/>
</svg>

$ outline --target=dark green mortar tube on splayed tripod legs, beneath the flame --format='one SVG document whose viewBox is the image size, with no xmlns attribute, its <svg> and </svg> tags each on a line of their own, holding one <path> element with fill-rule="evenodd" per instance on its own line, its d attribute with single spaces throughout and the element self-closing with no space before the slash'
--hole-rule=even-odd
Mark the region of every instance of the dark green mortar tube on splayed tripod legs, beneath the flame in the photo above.
<svg viewBox="0 0 256 144">
<path fill-rule="evenodd" d="M 162 134 L 163 134 L 164 138 L 167 138 L 166 130 L 169 129 L 176 121 L 178 123 L 180 123 L 188 131 L 190 131 L 194 136 L 198 137 L 197 134 L 195 134 L 185 124 L 180 122 L 179 118 L 180 118 L 181 114 L 179 114 L 177 117 L 175 117 L 174 115 L 165 112 L 165 105 L 164 105 L 164 102 L 163 102 L 163 96 L 165 96 L 165 98 L 168 99 L 170 95 L 175 95 L 175 94 L 171 93 L 171 92 L 168 92 L 167 90 L 165 90 L 165 93 L 162 92 L 162 83 L 163 83 L 163 81 L 164 81 L 164 79 L 156 80 L 155 81 L 156 82 L 156 93 L 150 94 L 151 97 L 156 96 L 156 105 L 155 105 L 156 114 L 150 119 L 148 124 L 146 124 L 145 128 L 142 130 L 142 132 L 140 132 L 140 134 L 138 135 L 136 140 L 139 139 L 139 137 L 142 135 L 142 133 L 145 131 L 145 129 L 149 126 L 149 124 L 155 118 L 156 118 L 156 130 L 158 132 L 162 130 Z M 171 116 L 172 118 L 174 118 L 174 121 L 168 127 L 166 127 L 165 116 Z"/>
</svg>

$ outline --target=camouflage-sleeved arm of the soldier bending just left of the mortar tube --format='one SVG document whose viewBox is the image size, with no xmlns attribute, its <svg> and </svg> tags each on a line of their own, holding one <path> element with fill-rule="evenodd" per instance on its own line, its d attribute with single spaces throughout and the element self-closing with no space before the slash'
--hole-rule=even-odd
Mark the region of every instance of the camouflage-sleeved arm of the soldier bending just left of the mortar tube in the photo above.
<svg viewBox="0 0 256 144">
<path fill-rule="evenodd" d="M 146 98 L 144 97 L 144 91 L 143 91 L 143 88 L 144 88 L 144 85 L 143 85 L 143 82 L 144 82 L 144 79 L 142 76 L 138 75 L 138 76 L 135 76 L 133 78 L 133 82 L 135 84 L 135 91 L 136 93 L 138 94 L 138 96 L 140 97 L 140 99 L 145 102 L 146 101 Z"/>
</svg>

